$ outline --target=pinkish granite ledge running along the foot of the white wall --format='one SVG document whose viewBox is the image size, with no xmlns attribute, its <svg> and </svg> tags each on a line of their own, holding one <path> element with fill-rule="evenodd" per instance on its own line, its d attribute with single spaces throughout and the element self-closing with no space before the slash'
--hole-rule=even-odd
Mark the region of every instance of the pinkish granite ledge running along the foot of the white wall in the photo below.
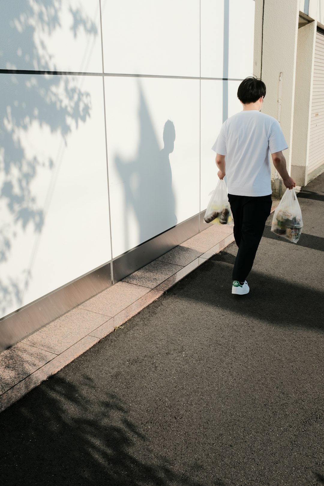
<svg viewBox="0 0 324 486">
<path fill-rule="evenodd" d="M 277 204 L 274 201 L 273 208 Z M 2 351 L 0 412 L 233 241 L 233 225 L 208 225 L 157 260 Z"/>
</svg>

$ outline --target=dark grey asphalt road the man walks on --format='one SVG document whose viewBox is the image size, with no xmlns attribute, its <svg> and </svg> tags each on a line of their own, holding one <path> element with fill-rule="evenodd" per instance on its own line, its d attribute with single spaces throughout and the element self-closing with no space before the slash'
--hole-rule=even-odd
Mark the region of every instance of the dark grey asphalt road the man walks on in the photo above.
<svg viewBox="0 0 324 486">
<path fill-rule="evenodd" d="M 267 222 L 0 414 L 1 485 L 323 485 L 324 174 L 299 243 Z"/>
</svg>

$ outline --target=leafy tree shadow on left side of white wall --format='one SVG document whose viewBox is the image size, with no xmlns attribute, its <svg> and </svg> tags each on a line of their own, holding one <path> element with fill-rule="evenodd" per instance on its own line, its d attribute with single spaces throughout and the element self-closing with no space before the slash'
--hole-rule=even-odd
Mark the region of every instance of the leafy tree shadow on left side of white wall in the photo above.
<svg viewBox="0 0 324 486">
<path fill-rule="evenodd" d="M 60 30 L 62 0 L 2 1 L 1 5 L 0 66 L 12 71 L 0 73 L 0 317 L 9 309 L 21 307 L 30 282 L 28 250 L 21 248 L 22 252 L 26 251 L 24 268 L 16 269 L 15 275 L 9 260 L 19 235 L 33 228 L 36 241 L 44 226 L 50 194 L 48 191 L 45 204 L 39 201 L 35 189 L 37 176 L 41 171 L 50 173 L 50 180 L 55 184 L 59 170 L 59 154 L 42 155 L 37 146 L 31 146 L 28 131 L 38 127 L 49 129 L 50 134 L 59 133 L 62 151 L 69 133 L 85 122 L 91 112 L 90 94 L 79 87 L 77 78 L 14 71 L 17 68 L 57 69 L 39 34 L 52 35 Z M 74 36 L 80 29 L 87 35 L 98 35 L 93 21 L 80 9 L 70 7 L 69 14 Z M 48 180 L 49 176 L 45 174 L 44 179 Z"/>
</svg>

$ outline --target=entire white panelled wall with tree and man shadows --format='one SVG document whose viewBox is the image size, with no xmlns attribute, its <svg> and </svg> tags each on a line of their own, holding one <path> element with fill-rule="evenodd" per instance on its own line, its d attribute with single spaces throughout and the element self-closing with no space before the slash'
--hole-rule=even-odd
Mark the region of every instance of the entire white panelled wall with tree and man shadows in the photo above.
<svg viewBox="0 0 324 486">
<path fill-rule="evenodd" d="M 0 0 L 0 317 L 206 207 L 254 7 Z"/>
</svg>

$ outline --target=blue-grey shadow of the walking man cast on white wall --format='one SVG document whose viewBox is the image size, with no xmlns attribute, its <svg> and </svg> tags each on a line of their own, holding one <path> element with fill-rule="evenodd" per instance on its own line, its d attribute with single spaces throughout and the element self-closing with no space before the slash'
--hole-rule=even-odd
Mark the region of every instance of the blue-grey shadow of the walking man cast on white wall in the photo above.
<svg viewBox="0 0 324 486">
<path fill-rule="evenodd" d="M 164 147 L 160 150 L 140 87 L 139 97 L 137 155 L 131 161 L 115 157 L 124 187 L 125 214 L 122 217 L 127 249 L 150 240 L 177 223 L 170 163 L 175 141 L 174 124 L 171 120 L 166 121 L 163 129 Z M 129 233 L 129 222 L 134 213 L 139 227 L 139 241 L 135 245 Z"/>
</svg>

